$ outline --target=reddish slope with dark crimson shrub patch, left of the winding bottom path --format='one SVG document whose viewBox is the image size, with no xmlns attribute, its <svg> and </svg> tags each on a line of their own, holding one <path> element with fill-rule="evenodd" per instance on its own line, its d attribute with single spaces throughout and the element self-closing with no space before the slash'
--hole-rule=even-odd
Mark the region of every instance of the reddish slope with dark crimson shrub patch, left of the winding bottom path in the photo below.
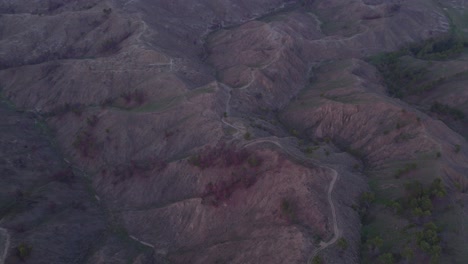
<svg viewBox="0 0 468 264">
<path fill-rule="evenodd" d="M 165 175 L 171 172 L 182 174 L 178 182 L 173 182 L 175 175 Z M 179 162 L 146 182 L 147 188 L 138 188 L 146 193 L 135 199 L 138 206 L 116 210 L 130 232 L 177 263 L 304 262 L 312 247 L 309 236 L 330 235 L 326 175 L 322 169 L 298 166 L 269 150 L 251 153 L 231 166 L 221 162 L 194 169 Z M 184 185 L 191 188 L 182 192 Z M 152 199 L 161 193 L 164 198 Z M 177 197 L 182 193 L 185 197 Z M 127 194 L 131 192 L 119 196 L 120 207 L 129 202 Z"/>
</svg>

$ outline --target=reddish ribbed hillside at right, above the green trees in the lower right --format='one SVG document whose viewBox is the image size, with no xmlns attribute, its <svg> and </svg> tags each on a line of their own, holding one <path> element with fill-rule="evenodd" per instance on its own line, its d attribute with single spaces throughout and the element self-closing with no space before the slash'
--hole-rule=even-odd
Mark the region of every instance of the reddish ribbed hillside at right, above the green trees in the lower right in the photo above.
<svg viewBox="0 0 468 264">
<path fill-rule="evenodd" d="M 465 253 L 458 246 L 466 243 L 467 211 L 458 205 L 467 199 L 466 139 L 441 121 L 385 96 L 375 82 L 375 69 L 363 61 L 324 64 L 315 72 L 310 86 L 281 111 L 281 120 L 306 138 L 332 142 L 361 159 L 381 197 L 398 199 L 408 182 L 441 177 L 450 188 L 449 198 L 436 205 L 456 204 L 454 211 L 435 213 L 437 223 L 456 226 L 444 230 L 450 238 L 444 240 L 445 247 L 456 253 L 443 256 L 441 263 L 462 261 Z M 380 232 L 400 230 L 397 226 Z"/>
</svg>

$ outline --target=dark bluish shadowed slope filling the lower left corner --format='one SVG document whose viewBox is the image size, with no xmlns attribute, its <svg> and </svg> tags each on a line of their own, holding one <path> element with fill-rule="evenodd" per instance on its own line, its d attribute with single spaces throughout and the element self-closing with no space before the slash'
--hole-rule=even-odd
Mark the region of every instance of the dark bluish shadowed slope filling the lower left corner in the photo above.
<svg viewBox="0 0 468 264">
<path fill-rule="evenodd" d="M 0 263 L 87 263 L 93 255 L 148 263 L 150 252 L 117 234 L 87 179 L 61 158 L 41 120 L 3 101 L 0 114 Z"/>
</svg>

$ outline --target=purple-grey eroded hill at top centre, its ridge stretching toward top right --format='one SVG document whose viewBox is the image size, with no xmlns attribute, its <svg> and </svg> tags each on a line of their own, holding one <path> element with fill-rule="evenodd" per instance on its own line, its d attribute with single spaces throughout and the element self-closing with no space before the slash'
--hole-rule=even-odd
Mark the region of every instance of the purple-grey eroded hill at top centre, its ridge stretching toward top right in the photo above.
<svg viewBox="0 0 468 264">
<path fill-rule="evenodd" d="M 442 11 L 421 1 L 309 5 L 310 9 L 286 9 L 208 38 L 208 62 L 218 80 L 233 88 L 238 111 L 284 107 L 306 85 L 319 61 L 394 50 L 448 30 Z"/>
</svg>

